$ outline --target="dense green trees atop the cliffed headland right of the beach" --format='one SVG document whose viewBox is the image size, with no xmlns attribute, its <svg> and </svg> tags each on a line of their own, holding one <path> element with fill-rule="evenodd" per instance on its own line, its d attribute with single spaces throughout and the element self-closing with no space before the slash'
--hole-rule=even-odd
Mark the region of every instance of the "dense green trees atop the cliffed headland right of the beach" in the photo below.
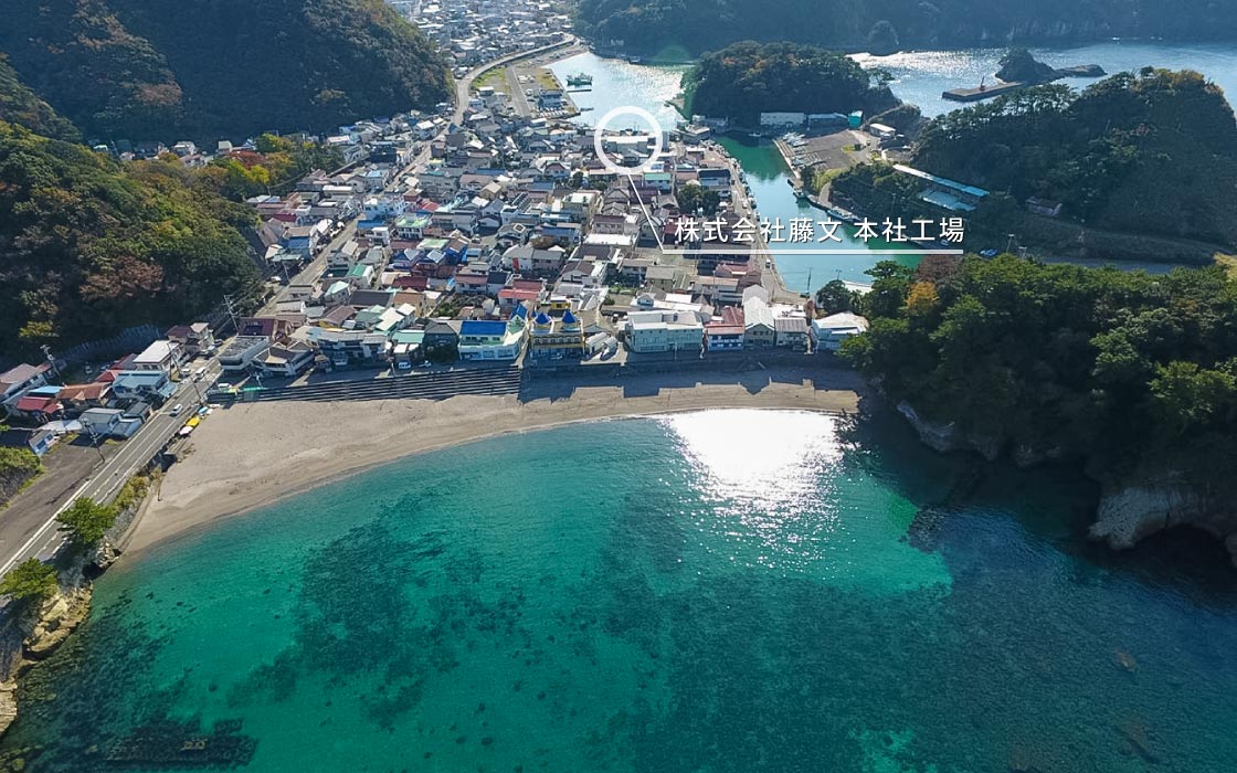
<svg viewBox="0 0 1237 773">
<path fill-rule="evenodd" d="M 1176 469 L 1215 485 L 1237 461 L 1237 282 L 933 256 L 882 262 L 842 356 L 924 417 L 1096 472 Z M 834 288 L 836 289 L 836 288 Z M 1230 476 L 1231 477 L 1231 476 Z"/>
</svg>

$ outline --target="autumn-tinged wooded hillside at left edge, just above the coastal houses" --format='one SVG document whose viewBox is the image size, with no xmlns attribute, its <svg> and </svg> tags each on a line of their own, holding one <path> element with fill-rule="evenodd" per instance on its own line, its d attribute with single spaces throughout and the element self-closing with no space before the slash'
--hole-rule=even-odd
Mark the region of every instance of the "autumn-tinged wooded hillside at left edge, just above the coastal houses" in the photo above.
<svg viewBox="0 0 1237 773">
<path fill-rule="evenodd" d="M 179 164 L 122 166 L 0 122 L 0 355 L 172 324 L 257 281 L 244 207 Z"/>
</svg>

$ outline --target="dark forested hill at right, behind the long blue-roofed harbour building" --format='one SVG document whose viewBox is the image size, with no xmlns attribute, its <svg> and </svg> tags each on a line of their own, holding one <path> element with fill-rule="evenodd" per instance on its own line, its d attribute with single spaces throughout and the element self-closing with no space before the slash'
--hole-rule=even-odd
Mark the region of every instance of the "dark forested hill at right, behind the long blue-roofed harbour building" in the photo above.
<svg viewBox="0 0 1237 773">
<path fill-rule="evenodd" d="M 1194 72 L 1119 73 L 1080 93 L 1021 89 L 930 121 L 913 163 L 996 194 L 974 214 L 978 230 L 1063 230 L 1028 219 L 1025 199 L 1040 197 L 1089 228 L 1237 244 L 1237 198 L 1226 193 L 1237 190 L 1237 119 Z M 888 166 L 856 167 L 833 186 L 872 211 L 927 208 L 920 186 Z"/>
</svg>

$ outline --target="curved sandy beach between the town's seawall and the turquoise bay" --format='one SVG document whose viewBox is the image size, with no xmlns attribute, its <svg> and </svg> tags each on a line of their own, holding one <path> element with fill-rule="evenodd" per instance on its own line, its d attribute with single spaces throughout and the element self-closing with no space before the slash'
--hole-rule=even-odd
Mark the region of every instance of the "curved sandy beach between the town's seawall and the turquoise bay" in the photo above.
<svg viewBox="0 0 1237 773">
<path fill-rule="evenodd" d="M 515 396 L 445 401 L 263 402 L 215 411 L 181 449 L 125 552 L 402 456 L 590 419 L 706 408 L 854 413 L 862 381 L 842 370 L 659 374 L 621 383 L 550 380 Z"/>
</svg>

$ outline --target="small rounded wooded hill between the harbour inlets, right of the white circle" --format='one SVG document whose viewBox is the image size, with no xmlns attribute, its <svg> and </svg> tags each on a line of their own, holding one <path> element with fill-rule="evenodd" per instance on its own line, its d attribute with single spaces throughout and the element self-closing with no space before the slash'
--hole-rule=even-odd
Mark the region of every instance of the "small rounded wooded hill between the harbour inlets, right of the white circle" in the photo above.
<svg viewBox="0 0 1237 773">
<path fill-rule="evenodd" d="M 700 57 L 683 75 L 683 88 L 693 114 L 753 126 L 761 113 L 888 110 L 898 100 L 880 78 L 815 46 L 747 41 Z"/>
</svg>

